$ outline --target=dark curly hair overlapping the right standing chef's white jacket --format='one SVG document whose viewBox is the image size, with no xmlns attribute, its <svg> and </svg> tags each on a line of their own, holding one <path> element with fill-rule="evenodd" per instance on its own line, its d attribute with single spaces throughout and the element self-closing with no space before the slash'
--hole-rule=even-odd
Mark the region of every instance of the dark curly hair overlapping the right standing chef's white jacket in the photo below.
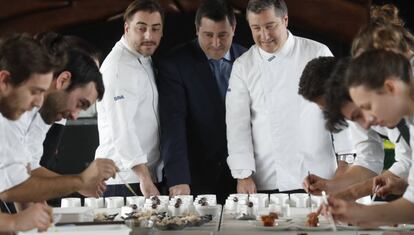
<svg viewBox="0 0 414 235">
<path fill-rule="evenodd" d="M 309 61 L 300 77 L 299 95 L 312 102 L 322 97 L 325 93 L 324 85 L 337 61 L 332 56 L 321 56 Z"/>
</svg>

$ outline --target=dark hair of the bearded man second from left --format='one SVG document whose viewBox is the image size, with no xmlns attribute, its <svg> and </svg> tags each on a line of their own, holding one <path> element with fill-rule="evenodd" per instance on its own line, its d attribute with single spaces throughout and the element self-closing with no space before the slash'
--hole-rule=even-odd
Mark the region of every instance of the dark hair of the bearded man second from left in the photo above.
<svg viewBox="0 0 414 235">
<path fill-rule="evenodd" d="M 68 62 L 63 71 L 71 73 L 71 80 L 66 89 L 67 91 L 72 91 L 93 82 L 98 92 L 98 100 L 102 99 L 105 92 L 102 74 L 99 72 L 95 61 L 89 55 L 77 50 L 68 51 Z"/>
</svg>

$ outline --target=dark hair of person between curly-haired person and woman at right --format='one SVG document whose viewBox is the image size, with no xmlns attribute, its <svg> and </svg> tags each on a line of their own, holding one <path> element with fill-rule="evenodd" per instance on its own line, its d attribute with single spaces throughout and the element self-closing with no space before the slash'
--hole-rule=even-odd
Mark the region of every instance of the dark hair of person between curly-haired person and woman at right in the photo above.
<svg viewBox="0 0 414 235">
<path fill-rule="evenodd" d="M 331 132 L 339 132 L 348 126 L 341 109 L 346 103 L 352 102 L 345 80 L 350 60 L 349 57 L 339 59 L 325 83 L 323 114 L 326 120 L 325 127 Z"/>
</svg>

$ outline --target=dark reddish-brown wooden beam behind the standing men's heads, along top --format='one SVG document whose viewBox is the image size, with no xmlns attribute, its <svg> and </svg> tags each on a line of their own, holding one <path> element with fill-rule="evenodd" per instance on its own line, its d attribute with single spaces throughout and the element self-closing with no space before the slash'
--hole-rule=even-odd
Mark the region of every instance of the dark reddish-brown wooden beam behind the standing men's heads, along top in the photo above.
<svg viewBox="0 0 414 235">
<path fill-rule="evenodd" d="M 192 12 L 201 0 L 159 0 L 166 12 Z M 0 11 L 0 32 L 39 33 L 122 16 L 131 0 L 14 0 Z M 248 0 L 231 0 L 244 13 Z M 351 41 L 368 21 L 370 0 L 286 0 L 289 24 Z M 22 4 L 23 3 L 23 4 Z M 17 17 L 18 16 L 18 17 Z"/>
</svg>

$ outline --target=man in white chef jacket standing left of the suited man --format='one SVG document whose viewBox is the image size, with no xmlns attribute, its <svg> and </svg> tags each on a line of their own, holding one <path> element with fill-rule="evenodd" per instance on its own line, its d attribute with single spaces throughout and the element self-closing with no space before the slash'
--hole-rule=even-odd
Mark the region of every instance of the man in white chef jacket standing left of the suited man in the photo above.
<svg viewBox="0 0 414 235">
<path fill-rule="evenodd" d="M 105 196 L 158 195 L 161 181 L 158 92 L 151 55 L 163 29 L 163 11 L 152 0 L 132 2 L 124 14 L 124 35 L 104 60 L 101 72 L 106 87 L 97 103 L 99 147 L 120 168 L 108 181 Z"/>
</svg>

